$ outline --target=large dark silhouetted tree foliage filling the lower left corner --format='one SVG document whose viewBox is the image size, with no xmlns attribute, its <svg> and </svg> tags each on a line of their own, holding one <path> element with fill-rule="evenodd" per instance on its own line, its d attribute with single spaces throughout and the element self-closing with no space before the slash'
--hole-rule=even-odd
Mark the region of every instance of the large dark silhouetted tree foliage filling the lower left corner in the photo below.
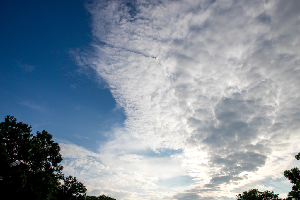
<svg viewBox="0 0 300 200">
<path fill-rule="evenodd" d="M 0 193 L 2 199 L 116 200 L 105 195 L 86 196 L 86 188 L 72 176 L 64 177 L 58 143 L 43 130 L 35 136 L 31 126 L 7 115 L 0 123 Z M 61 183 L 63 182 L 63 183 Z"/>
</svg>

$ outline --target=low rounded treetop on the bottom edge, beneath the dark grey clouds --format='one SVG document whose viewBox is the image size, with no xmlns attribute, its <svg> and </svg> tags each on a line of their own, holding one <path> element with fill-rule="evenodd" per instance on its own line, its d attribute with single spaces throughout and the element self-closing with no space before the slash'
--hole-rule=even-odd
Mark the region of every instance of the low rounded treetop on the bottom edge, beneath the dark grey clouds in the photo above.
<svg viewBox="0 0 300 200">
<path fill-rule="evenodd" d="M 274 194 L 274 191 L 259 191 L 258 189 L 251 189 L 244 191 L 243 194 L 235 195 L 237 200 L 280 200 L 278 194 Z"/>
</svg>

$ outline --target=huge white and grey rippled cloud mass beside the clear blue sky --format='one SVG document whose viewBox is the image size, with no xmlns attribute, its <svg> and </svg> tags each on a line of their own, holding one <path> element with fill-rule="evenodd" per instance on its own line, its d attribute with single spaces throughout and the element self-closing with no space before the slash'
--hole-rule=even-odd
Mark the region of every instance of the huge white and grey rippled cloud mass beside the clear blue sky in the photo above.
<svg viewBox="0 0 300 200">
<path fill-rule="evenodd" d="M 97 158 L 78 160 L 62 148 L 67 169 L 90 191 L 117 199 L 235 199 L 283 177 L 300 151 L 299 1 L 86 7 L 94 51 L 79 60 L 107 83 L 127 117 Z"/>
</svg>

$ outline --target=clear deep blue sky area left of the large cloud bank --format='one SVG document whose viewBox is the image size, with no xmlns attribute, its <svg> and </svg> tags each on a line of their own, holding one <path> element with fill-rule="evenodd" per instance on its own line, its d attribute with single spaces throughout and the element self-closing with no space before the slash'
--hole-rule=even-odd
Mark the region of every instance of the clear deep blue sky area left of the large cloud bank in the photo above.
<svg viewBox="0 0 300 200">
<path fill-rule="evenodd" d="M 1 19 L 1 115 L 90 148 L 122 125 L 110 91 L 71 53 L 92 40 L 83 1 L 3 1 Z"/>
</svg>

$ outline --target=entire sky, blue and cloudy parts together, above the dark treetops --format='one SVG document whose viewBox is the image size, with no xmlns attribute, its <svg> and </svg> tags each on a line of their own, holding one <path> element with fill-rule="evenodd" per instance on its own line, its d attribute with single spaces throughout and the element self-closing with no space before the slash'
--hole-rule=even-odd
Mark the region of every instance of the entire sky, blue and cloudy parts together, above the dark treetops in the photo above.
<svg viewBox="0 0 300 200">
<path fill-rule="evenodd" d="M 286 197 L 299 167 L 300 1 L 0 2 L 0 116 L 118 200 Z"/>
</svg>

